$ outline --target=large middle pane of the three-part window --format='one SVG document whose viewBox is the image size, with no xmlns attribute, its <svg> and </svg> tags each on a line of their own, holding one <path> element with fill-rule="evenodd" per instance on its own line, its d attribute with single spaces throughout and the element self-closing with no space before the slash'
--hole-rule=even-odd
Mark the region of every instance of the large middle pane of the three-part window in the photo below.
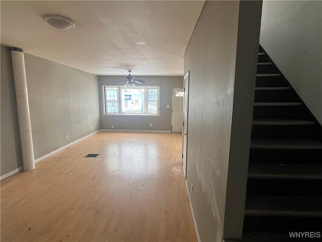
<svg viewBox="0 0 322 242">
<path fill-rule="evenodd" d="M 145 88 L 120 88 L 121 112 L 144 113 L 145 112 Z"/>
</svg>

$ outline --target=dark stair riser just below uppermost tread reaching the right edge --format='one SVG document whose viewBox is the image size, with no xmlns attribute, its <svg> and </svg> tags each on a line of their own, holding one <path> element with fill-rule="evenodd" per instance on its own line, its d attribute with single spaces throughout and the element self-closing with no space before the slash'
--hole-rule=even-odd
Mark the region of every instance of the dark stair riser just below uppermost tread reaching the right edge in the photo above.
<svg viewBox="0 0 322 242">
<path fill-rule="evenodd" d="M 251 149 L 250 163 L 320 163 L 322 150 Z"/>
</svg>

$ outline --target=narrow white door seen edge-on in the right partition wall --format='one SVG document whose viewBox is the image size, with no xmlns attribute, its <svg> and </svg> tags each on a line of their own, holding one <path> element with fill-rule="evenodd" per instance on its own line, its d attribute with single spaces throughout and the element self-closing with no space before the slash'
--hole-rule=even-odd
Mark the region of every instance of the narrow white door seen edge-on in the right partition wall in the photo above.
<svg viewBox="0 0 322 242">
<path fill-rule="evenodd" d="M 184 104 L 182 129 L 182 166 L 187 178 L 187 139 L 188 139 L 188 104 L 189 104 L 189 72 L 184 78 Z"/>
</svg>

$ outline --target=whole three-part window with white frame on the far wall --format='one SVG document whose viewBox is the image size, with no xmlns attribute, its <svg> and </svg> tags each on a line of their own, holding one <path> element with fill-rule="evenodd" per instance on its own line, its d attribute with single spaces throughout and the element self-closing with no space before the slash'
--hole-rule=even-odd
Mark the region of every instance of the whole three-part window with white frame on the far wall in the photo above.
<svg viewBox="0 0 322 242">
<path fill-rule="evenodd" d="M 103 86 L 104 114 L 159 115 L 160 87 Z"/>
</svg>

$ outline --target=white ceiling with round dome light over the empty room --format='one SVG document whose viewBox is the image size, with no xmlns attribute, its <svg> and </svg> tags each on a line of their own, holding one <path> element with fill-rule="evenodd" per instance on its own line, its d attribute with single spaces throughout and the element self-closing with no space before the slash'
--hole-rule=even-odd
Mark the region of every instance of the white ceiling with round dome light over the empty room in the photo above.
<svg viewBox="0 0 322 242">
<path fill-rule="evenodd" d="M 204 1 L 1 1 L 1 43 L 96 75 L 182 76 Z M 58 30 L 43 16 L 75 27 Z M 136 42 L 143 41 L 145 45 Z"/>
</svg>

